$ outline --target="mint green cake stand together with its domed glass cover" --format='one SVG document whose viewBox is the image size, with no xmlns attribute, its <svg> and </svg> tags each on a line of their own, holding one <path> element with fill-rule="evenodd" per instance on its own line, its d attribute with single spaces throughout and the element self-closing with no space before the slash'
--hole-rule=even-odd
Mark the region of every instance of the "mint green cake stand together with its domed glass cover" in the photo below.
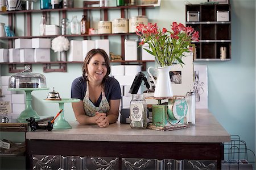
<svg viewBox="0 0 256 170">
<path fill-rule="evenodd" d="M 36 120 L 40 118 L 38 113 L 32 109 L 31 93 L 35 90 L 48 89 L 46 87 L 46 77 L 43 74 L 31 72 L 30 65 L 26 65 L 23 72 L 13 74 L 9 78 L 8 90 L 26 92 L 26 109 L 20 113 L 19 122 L 27 122 L 26 119 L 30 117 L 34 117 Z"/>
</svg>

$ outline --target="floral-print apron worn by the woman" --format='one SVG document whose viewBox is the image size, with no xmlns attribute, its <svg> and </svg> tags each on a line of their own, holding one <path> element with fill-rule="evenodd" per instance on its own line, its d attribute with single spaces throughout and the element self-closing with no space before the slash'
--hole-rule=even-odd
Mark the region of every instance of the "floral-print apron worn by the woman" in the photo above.
<svg viewBox="0 0 256 170">
<path fill-rule="evenodd" d="M 108 113 L 110 109 L 108 99 L 106 99 L 106 96 L 103 90 L 101 93 L 101 102 L 98 107 L 96 107 L 94 103 L 90 101 L 88 81 L 86 81 L 86 92 L 85 92 L 85 97 L 83 99 L 83 102 L 84 102 L 85 115 L 88 115 L 89 117 L 94 117 L 97 111 L 100 113 Z"/>
</svg>

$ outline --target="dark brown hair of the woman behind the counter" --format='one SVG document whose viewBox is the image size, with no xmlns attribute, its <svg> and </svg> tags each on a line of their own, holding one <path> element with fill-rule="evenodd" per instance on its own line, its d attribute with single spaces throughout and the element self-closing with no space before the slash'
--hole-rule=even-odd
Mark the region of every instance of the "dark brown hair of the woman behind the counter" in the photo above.
<svg viewBox="0 0 256 170">
<path fill-rule="evenodd" d="M 92 57 L 96 54 L 102 55 L 106 63 L 107 73 L 106 73 L 106 76 L 103 78 L 103 81 L 102 81 L 102 84 L 103 84 L 106 78 L 110 74 L 109 56 L 103 49 L 100 49 L 100 48 L 92 49 L 86 54 L 84 62 L 82 63 L 82 76 L 87 80 L 86 73 L 88 73 L 88 64 L 90 63 L 90 60 L 92 59 Z"/>
</svg>

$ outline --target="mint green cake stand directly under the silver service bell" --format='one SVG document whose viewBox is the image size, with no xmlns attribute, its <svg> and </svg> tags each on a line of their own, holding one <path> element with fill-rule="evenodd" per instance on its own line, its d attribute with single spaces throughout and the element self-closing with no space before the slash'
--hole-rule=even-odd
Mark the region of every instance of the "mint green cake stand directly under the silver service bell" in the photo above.
<svg viewBox="0 0 256 170">
<path fill-rule="evenodd" d="M 59 110 L 63 109 L 61 112 L 59 118 L 57 118 L 57 121 L 53 123 L 53 128 L 72 128 L 72 126 L 69 125 L 67 121 L 65 121 L 64 118 L 64 103 L 73 103 L 73 102 L 79 102 L 80 99 L 77 98 L 62 98 L 61 100 L 46 100 L 44 99 L 44 102 L 48 103 L 59 103 Z"/>
</svg>

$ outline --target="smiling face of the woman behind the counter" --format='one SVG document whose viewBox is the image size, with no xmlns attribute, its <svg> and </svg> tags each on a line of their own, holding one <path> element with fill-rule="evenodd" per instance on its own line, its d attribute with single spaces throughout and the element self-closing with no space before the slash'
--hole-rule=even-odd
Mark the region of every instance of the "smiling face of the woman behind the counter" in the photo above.
<svg viewBox="0 0 256 170">
<path fill-rule="evenodd" d="M 102 55 L 97 53 L 90 59 L 88 64 L 88 78 L 90 81 L 102 81 L 106 76 L 107 67 L 105 59 Z"/>
</svg>

